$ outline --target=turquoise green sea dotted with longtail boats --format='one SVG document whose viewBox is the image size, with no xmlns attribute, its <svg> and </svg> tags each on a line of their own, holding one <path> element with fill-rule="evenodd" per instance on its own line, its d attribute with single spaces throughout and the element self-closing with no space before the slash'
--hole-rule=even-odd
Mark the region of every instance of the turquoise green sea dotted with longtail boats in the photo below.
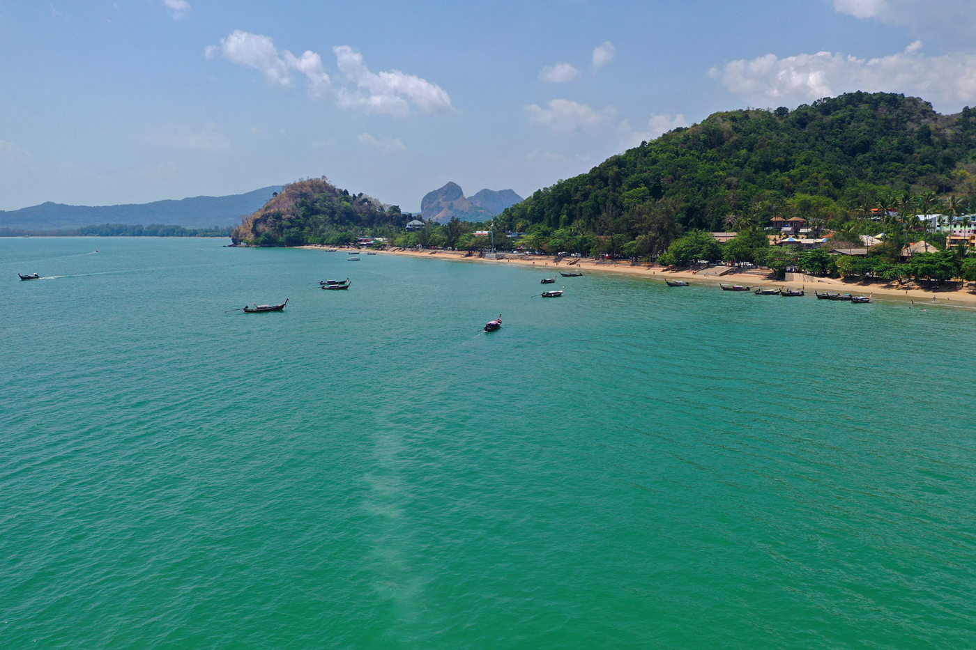
<svg viewBox="0 0 976 650">
<path fill-rule="evenodd" d="M 976 647 L 976 311 L 224 243 L 0 239 L 0 648 Z"/>
</svg>

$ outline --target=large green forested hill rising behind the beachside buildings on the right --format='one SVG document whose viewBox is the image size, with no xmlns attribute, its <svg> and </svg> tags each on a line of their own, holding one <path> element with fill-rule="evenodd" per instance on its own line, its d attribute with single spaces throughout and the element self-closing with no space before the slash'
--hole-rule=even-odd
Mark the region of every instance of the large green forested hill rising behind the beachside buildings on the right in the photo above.
<svg viewBox="0 0 976 650">
<path fill-rule="evenodd" d="M 917 98 L 850 93 L 715 113 L 538 190 L 497 221 L 542 237 L 617 234 L 646 255 L 681 230 L 777 215 L 826 223 L 896 192 L 952 192 L 976 207 L 974 173 L 976 111 L 940 115 Z"/>
</svg>

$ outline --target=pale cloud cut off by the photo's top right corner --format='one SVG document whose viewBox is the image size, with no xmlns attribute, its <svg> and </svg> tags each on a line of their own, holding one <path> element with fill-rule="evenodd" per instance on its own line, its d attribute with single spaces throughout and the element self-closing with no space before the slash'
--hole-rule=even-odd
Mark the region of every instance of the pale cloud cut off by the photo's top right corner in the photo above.
<svg viewBox="0 0 976 650">
<path fill-rule="evenodd" d="M 976 36 L 976 0 L 834 0 L 834 10 L 938 38 L 950 51 L 971 50 L 967 39 Z"/>
</svg>

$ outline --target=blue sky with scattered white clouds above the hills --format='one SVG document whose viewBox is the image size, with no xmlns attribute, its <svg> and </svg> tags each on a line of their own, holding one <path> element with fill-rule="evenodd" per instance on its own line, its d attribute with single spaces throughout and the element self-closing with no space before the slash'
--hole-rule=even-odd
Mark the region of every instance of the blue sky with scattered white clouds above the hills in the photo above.
<svg viewBox="0 0 976 650">
<path fill-rule="evenodd" d="M 0 210 L 535 189 L 716 110 L 976 104 L 976 0 L 0 2 Z"/>
</svg>

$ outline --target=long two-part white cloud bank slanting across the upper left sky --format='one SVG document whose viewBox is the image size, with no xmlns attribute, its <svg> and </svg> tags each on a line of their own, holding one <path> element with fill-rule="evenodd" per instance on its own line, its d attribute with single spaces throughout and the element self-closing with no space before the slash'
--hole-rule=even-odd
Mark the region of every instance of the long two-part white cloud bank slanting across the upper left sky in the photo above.
<svg viewBox="0 0 976 650">
<path fill-rule="evenodd" d="M 322 58 L 308 50 L 296 57 L 288 50 L 278 54 L 267 36 L 237 30 L 204 50 L 208 59 L 223 57 L 264 73 L 272 86 L 289 88 L 292 73 L 300 72 L 308 80 L 313 96 L 325 95 L 333 88 L 333 80 L 325 70 Z M 451 98 L 437 84 L 400 70 L 373 72 L 363 57 L 347 45 L 333 48 L 336 64 L 345 85 L 334 88 L 336 102 L 344 108 L 360 109 L 393 117 L 405 117 L 416 107 L 427 113 L 453 110 Z"/>
</svg>

